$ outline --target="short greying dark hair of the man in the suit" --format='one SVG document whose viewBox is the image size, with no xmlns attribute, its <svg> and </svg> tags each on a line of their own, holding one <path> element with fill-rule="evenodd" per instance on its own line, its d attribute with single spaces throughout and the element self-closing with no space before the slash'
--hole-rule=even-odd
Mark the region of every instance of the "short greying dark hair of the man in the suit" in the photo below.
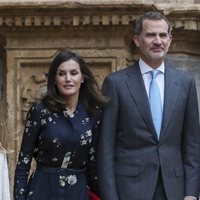
<svg viewBox="0 0 200 200">
<path fill-rule="evenodd" d="M 143 22 L 145 19 L 149 20 L 165 20 L 166 23 L 168 24 L 168 33 L 171 35 L 171 25 L 169 20 L 165 17 L 164 14 L 159 13 L 159 12 L 146 12 L 143 15 L 139 16 L 136 25 L 135 25 L 135 34 L 140 35 L 143 29 Z"/>
</svg>

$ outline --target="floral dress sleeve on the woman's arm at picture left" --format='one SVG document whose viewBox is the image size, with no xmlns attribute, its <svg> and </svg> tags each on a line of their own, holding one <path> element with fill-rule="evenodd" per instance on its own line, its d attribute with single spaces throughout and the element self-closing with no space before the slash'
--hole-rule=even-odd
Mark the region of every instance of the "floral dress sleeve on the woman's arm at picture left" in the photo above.
<svg viewBox="0 0 200 200">
<path fill-rule="evenodd" d="M 22 138 L 21 149 L 15 170 L 14 200 L 26 200 L 26 186 L 31 167 L 31 161 L 36 150 L 36 144 L 40 134 L 40 110 L 38 104 L 34 104 L 26 118 L 25 129 Z"/>
</svg>

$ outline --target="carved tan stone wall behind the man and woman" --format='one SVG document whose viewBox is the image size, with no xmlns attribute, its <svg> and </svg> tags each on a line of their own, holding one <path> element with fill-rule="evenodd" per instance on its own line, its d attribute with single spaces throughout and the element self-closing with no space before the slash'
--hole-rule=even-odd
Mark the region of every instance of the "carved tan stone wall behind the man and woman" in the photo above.
<svg viewBox="0 0 200 200">
<path fill-rule="evenodd" d="M 9 119 L 9 148 L 14 150 L 9 154 L 11 188 L 27 110 L 45 92 L 49 63 L 58 49 L 80 53 L 101 85 L 106 75 L 138 58 L 132 42 L 135 20 L 157 10 L 173 25 L 169 62 L 193 73 L 200 91 L 199 2 L 163 2 L 0 1 L 0 97 Z M 200 102 L 199 93 L 198 98 Z"/>
</svg>

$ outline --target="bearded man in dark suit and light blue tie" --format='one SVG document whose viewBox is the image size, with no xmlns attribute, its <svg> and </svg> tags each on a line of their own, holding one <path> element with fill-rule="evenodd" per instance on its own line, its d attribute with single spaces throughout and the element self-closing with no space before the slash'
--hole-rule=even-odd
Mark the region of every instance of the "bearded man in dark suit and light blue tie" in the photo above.
<svg viewBox="0 0 200 200">
<path fill-rule="evenodd" d="M 103 112 L 98 151 L 102 200 L 198 198 L 200 125 L 195 81 L 164 61 L 171 40 L 164 15 L 140 16 L 134 35 L 140 59 L 103 83 L 110 102 Z M 151 71 L 157 71 L 159 103 L 151 100 L 156 96 Z"/>
</svg>

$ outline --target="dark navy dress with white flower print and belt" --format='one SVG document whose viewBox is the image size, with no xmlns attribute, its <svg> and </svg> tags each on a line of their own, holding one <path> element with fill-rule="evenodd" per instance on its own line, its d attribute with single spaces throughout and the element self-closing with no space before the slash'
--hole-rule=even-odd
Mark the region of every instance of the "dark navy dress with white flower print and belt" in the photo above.
<svg viewBox="0 0 200 200">
<path fill-rule="evenodd" d="M 81 104 L 72 117 L 42 103 L 28 112 L 15 171 L 15 200 L 88 200 L 95 188 L 100 109 L 92 117 Z M 32 158 L 36 169 L 28 178 Z"/>
</svg>

